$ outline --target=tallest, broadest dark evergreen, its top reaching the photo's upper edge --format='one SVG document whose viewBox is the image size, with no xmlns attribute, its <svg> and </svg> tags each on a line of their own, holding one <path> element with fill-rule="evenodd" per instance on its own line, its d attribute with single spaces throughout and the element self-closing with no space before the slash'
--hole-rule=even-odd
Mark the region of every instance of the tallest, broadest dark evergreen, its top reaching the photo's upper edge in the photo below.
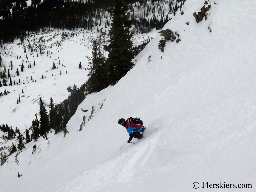
<svg viewBox="0 0 256 192">
<path fill-rule="evenodd" d="M 124 0 L 115 0 L 114 8 L 110 8 L 113 17 L 109 32 L 109 45 L 104 46 L 108 51 L 107 64 L 109 67 L 109 84 L 116 84 L 133 66 L 132 52 L 132 21 L 129 20 L 128 4 Z"/>
</svg>

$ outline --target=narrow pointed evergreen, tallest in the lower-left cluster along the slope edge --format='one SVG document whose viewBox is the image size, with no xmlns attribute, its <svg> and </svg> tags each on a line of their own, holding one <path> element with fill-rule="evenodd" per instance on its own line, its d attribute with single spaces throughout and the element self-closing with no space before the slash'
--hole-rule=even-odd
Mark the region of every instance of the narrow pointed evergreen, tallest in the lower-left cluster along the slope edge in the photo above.
<svg viewBox="0 0 256 192">
<path fill-rule="evenodd" d="M 40 115 L 40 135 L 43 136 L 47 131 L 49 131 L 49 118 L 41 97 L 40 97 L 39 115 Z"/>
</svg>

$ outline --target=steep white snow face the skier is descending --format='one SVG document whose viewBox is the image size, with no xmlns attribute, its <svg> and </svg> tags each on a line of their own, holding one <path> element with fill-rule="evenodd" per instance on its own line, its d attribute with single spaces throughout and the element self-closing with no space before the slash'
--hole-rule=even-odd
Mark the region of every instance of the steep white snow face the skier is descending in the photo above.
<svg viewBox="0 0 256 192">
<path fill-rule="evenodd" d="M 27 144 L 18 165 L 9 157 L 0 167 L 1 190 L 192 191 L 198 182 L 197 190 L 208 191 L 202 182 L 225 182 L 254 191 L 255 1 L 212 2 L 208 20 L 196 23 L 193 13 L 203 5 L 186 1 L 184 14 L 164 27 L 181 41 L 167 41 L 162 53 L 157 35 L 124 78 L 80 104 L 65 138 L 40 138 L 37 154 Z M 158 131 L 126 143 L 117 121 L 130 116 Z"/>
</svg>

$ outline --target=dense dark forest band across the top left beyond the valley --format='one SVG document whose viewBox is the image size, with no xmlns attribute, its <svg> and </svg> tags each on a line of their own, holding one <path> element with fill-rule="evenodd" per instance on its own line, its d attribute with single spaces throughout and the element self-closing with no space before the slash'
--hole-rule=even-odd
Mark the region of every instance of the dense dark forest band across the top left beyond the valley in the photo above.
<svg viewBox="0 0 256 192">
<path fill-rule="evenodd" d="M 89 30 L 94 25 L 92 18 L 96 17 L 97 11 L 106 10 L 112 5 L 112 0 L 43 0 L 21 7 L 20 1 L 16 1 L 14 6 L 12 1 L 0 3 L 0 16 L 3 16 L 0 20 L 0 40 L 4 43 L 13 42 L 24 31 L 39 31 L 45 27 Z M 127 2 L 133 3 L 135 0 Z M 11 7 L 12 13 L 9 10 Z"/>
</svg>

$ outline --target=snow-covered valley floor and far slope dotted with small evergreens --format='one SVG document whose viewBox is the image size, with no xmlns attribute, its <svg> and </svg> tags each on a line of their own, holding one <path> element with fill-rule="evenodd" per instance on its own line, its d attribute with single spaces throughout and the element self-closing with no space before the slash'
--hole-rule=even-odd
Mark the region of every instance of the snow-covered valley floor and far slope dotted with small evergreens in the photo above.
<svg viewBox="0 0 256 192">
<path fill-rule="evenodd" d="M 173 4 L 175 3 L 173 1 Z M 156 13 L 149 13 L 146 17 L 148 20 L 155 18 L 161 22 L 162 14 L 164 15 L 165 12 L 171 18 L 172 12 L 168 10 L 168 1 L 156 2 L 155 6 Z M 142 18 L 144 9 L 151 10 L 151 5 L 148 1 L 142 4 L 135 2 L 130 4 L 130 7 L 132 12 L 135 12 L 135 19 Z M 164 11 L 160 12 L 161 9 L 164 9 Z M 171 9 L 170 6 L 169 9 Z M 11 130 L 19 129 L 25 135 L 25 128 L 31 128 L 32 119 L 35 119 L 35 114 L 38 113 L 40 97 L 47 110 L 49 110 L 50 97 L 52 97 L 53 102 L 58 104 L 67 99 L 69 95 L 67 90 L 70 90 L 70 86 L 72 88 L 72 85 L 76 84 L 79 87 L 79 85 L 85 83 L 88 78 L 87 70 L 90 68 L 86 55 L 91 55 L 92 42 L 100 34 L 103 34 L 101 37 L 102 43 L 108 44 L 108 32 L 111 23 L 111 16 L 108 11 L 99 7 L 92 17 L 87 18 L 87 20 L 91 20 L 90 25 L 93 26 L 95 24 L 94 27 L 88 26 L 88 28 L 78 28 L 73 31 L 42 28 L 36 32 L 27 32 L 23 38 L 24 42 L 21 42 L 20 38 L 12 43 L 1 45 L 0 54 L 3 62 L 2 67 L 0 67 L 0 76 L 2 84 L 4 84 L 6 75 L 7 84 L 0 87 L 0 93 L 2 93 L 0 106 L 6 109 L 10 107 L 10 109 L 7 109 L 10 113 L 9 115 L 6 115 L 6 111 L 2 110 L 0 112 L 0 116 L 3 117 L 0 119 L 1 126 L 8 126 Z M 132 13 L 130 17 L 132 17 Z M 165 22 L 167 21 L 165 20 Z M 163 26 L 163 23 L 159 25 L 159 22 L 156 22 L 155 25 L 159 28 Z M 145 44 L 156 36 L 159 30 L 154 26 L 150 26 L 146 31 L 147 33 L 142 34 L 141 31 L 136 31 L 136 28 L 136 26 L 132 28 L 134 32 L 132 42 L 137 54 Z M 53 62 L 57 66 L 54 70 L 51 69 Z M 82 70 L 77 67 L 79 62 L 82 62 Z M 21 64 L 24 65 L 23 71 Z M 16 70 L 18 69 L 19 76 L 15 68 Z M 6 72 L 4 73 L 5 69 Z M 10 73 L 11 78 L 7 77 L 7 73 Z M 10 81 L 12 81 L 12 84 Z M 41 86 L 38 86 L 38 84 Z M 14 85 L 17 86 L 15 87 Z M 4 94 L 5 91 L 8 93 L 6 96 Z M 21 102 L 18 102 L 19 94 Z M 13 122 L 13 119 L 19 119 L 19 121 Z M 31 132 L 32 130 L 29 129 L 30 134 Z M 7 135 L 9 137 L 8 133 L 0 132 L 0 158 L 3 157 L 1 164 L 8 157 L 12 143 L 17 144 L 16 138 L 7 139 Z"/>
</svg>

